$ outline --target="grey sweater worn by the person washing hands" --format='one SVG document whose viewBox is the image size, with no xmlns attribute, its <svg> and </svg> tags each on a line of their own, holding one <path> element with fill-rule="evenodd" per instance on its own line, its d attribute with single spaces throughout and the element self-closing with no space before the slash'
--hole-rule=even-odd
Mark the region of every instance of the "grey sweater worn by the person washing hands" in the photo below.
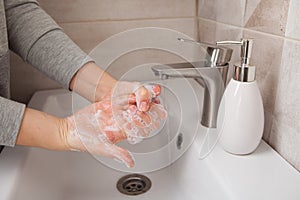
<svg viewBox="0 0 300 200">
<path fill-rule="evenodd" d="M 9 49 L 68 88 L 89 62 L 35 0 L 0 0 L 0 145 L 14 146 L 25 105 L 9 100 Z"/>
</svg>

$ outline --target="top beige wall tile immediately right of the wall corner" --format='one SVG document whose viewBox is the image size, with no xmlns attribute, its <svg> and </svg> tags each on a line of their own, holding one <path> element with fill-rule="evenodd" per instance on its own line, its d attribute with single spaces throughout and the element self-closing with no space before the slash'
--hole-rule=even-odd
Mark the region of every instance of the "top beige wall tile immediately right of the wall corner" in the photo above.
<svg viewBox="0 0 300 200">
<path fill-rule="evenodd" d="M 199 17 L 235 26 L 244 25 L 246 0 L 199 0 Z"/>
</svg>

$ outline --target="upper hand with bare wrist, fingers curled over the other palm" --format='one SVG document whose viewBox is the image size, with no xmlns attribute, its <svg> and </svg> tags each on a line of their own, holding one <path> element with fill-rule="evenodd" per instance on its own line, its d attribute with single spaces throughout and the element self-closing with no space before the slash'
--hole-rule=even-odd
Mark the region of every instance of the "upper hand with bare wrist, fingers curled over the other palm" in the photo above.
<svg viewBox="0 0 300 200">
<path fill-rule="evenodd" d="M 85 64 L 70 82 L 71 90 L 91 102 L 101 101 L 104 97 L 113 93 L 116 88 L 120 90 L 115 94 L 135 98 L 140 111 L 149 110 L 152 98 L 160 94 L 159 86 L 148 86 L 146 88 L 140 87 L 137 82 L 117 81 L 93 62 Z M 132 96 L 132 93 L 135 96 Z"/>
</svg>

